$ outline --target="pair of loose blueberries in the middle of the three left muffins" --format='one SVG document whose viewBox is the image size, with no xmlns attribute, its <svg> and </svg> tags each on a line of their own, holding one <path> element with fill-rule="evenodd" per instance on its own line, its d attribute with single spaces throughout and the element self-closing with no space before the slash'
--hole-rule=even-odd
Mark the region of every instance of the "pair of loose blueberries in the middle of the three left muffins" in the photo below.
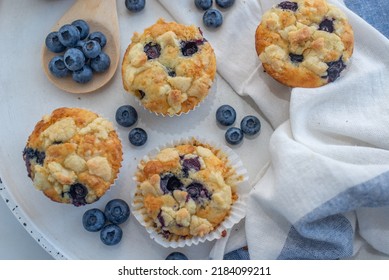
<svg viewBox="0 0 389 280">
<path fill-rule="evenodd" d="M 138 120 L 138 113 L 131 105 L 122 105 L 116 110 L 116 122 L 124 127 L 133 126 Z M 134 146 L 143 146 L 147 141 L 147 133 L 143 128 L 135 127 L 130 130 L 128 140 Z"/>
</svg>

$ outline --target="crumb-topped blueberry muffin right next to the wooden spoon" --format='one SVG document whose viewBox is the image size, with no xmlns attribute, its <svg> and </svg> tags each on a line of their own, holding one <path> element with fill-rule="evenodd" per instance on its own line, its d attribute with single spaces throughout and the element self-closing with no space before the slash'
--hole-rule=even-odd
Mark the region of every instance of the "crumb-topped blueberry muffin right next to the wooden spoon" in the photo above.
<svg viewBox="0 0 389 280">
<path fill-rule="evenodd" d="M 160 115 L 193 110 L 215 73 L 215 54 L 201 30 L 163 19 L 134 34 L 122 62 L 124 89 Z"/>
</svg>

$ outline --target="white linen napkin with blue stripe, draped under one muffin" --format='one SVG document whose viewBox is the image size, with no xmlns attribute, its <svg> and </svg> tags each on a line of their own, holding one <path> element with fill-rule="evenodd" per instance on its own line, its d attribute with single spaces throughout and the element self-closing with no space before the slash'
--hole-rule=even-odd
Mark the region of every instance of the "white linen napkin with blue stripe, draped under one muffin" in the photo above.
<svg viewBox="0 0 389 280">
<path fill-rule="evenodd" d="M 177 22 L 202 27 L 219 74 L 276 128 L 271 167 L 248 201 L 250 257 L 352 258 L 364 244 L 389 255 L 389 41 L 329 1 L 353 26 L 352 63 L 332 84 L 290 89 L 263 73 L 254 47 L 261 15 L 280 0 L 236 1 L 213 31 L 193 1 L 159 2 Z M 211 257 L 242 243 L 230 241 L 217 242 Z"/>
</svg>

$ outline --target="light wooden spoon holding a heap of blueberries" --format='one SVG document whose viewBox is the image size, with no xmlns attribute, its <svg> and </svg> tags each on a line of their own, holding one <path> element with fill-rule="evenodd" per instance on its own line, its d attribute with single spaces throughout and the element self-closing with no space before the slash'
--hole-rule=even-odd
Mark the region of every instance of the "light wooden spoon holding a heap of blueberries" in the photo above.
<svg viewBox="0 0 389 280">
<path fill-rule="evenodd" d="M 76 83 L 71 75 L 57 78 L 50 73 L 48 65 L 50 60 L 58 54 L 47 49 L 45 44 L 42 50 L 42 64 L 47 77 L 58 88 L 70 93 L 88 93 L 108 83 L 119 64 L 120 35 L 116 0 L 76 0 L 73 6 L 53 26 L 52 31 L 58 31 L 62 25 L 70 24 L 77 19 L 83 19 L 89 24 L 89 33 L 100 31 L 106 36 L 107 44 L 103 51 L 110 57 L 109 69 L 103 73 L 93 72 L 92 80 L 85 84 Z"/>
</svg>

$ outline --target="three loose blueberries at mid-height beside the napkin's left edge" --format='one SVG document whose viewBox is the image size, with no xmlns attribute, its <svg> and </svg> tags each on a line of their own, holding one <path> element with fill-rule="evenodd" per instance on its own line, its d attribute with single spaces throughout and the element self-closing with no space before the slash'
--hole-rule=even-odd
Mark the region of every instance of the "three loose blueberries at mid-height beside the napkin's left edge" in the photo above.
<svg viewBox="0 0 389 280">
<path fill-rule="evenodd" d="M 236 120 L 236 111 L 230 105 L 222 105 L 216 110 L 216 120 L 222 126 L 230 126 Z M 244 135 L 253 136 L 261 130 L 261 122 L 256 116 L 245 116 L 240 122 L 240 128 L 230 127 L 225 133 L 225 139 L 230 145 L 238 145 Z"/>
</svg>

